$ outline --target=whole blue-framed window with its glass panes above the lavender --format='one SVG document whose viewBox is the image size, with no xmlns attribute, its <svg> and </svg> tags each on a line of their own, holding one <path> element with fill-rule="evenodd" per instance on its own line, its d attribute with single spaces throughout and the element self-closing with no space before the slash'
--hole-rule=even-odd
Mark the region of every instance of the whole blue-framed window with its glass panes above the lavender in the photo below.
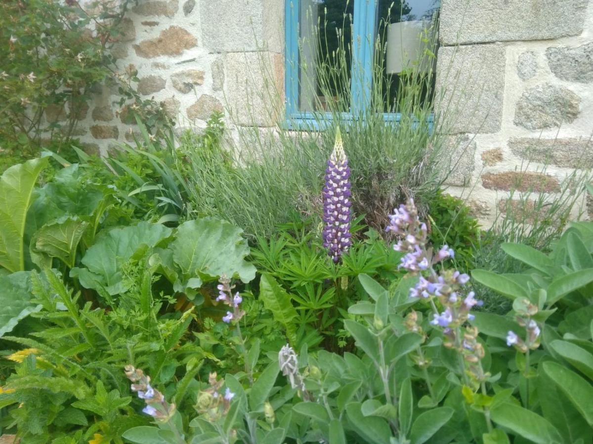
<svg viewBox="0 0 593 444">
<path fill-rule="evenodd" d="M 395 91 L 411 72 L 430 100 L 438 7 L 439 0 L 286 0 L 289 125 L 318 129 L 331 112 L 360 118 L 368 110 L 398 121 Z"/>
</svg>

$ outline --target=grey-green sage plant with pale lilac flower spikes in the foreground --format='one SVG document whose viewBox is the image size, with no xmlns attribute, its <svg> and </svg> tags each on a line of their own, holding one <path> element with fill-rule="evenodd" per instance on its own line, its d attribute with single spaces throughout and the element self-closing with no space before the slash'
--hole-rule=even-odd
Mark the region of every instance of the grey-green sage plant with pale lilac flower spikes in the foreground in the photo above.
<svg viewBox="0 0 593 444">
<path fill-rule="evenodd" d="M 474 271 L 473 279 L 513 301 L 512 312 L 500 316 L 471 313 L 477 301 L 468 292 L 469 276 L 443 267 L 437 278 L 431 266 L 451 252 L 431 257 L 414 210 L 408 205 L 392 219 L 406 235 L 399 248 L 420 244 L 402 259 L 413 297 L 360 275 L 370 300 L 352 305 L 354 317 L 345 320 L 358 352 L 309 353 L 303 346 L 297 355 L 287 345 L 268 356 L 254 381 L 243 372 L 211 374 L 200 384 L 190 428 L 161 392 L 141 381 L 134 390 L 155 426 L 134 427 L 124 437 L 137 443 L 148 436 L 162 443 L 590 443 L 593 224 L 573 224 L 550 256 L 506 244 L 531 267 L 527 274 Z M 425 260 L 428 269 L 421 271 Z M 425 297 L 416 297 L 423 291 Z M 257 356 L 259 343 L 246 352 Z M 132 370 L 127 375 L 138 381 Z"/>
</svg>

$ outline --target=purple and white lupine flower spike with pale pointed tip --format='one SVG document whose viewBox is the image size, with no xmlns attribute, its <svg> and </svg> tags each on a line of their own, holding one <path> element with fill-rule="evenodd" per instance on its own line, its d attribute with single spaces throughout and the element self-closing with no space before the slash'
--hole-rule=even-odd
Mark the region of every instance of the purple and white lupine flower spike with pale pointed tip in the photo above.
<svg viewBox="0 0 593 444">
<path fill-rule="evenodd" d="M 336 142 L 327 161 L 325 186 L 323 188 L 323 246 L 334 262 L 340 261 L 352 241 L 350 237 L 350 168 L 344 152 L 340 128 L 336 130 Z"/>
</svg>

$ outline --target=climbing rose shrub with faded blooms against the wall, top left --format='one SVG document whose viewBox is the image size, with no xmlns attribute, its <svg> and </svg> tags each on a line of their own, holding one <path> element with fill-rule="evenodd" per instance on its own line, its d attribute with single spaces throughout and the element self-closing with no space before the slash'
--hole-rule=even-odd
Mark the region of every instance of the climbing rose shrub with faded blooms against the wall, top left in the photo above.
<svg viewBox="0 0 593 444">
<path fill-rule="evenodd" d="M 72 138 L 96 85 L 117 86 L 126 115 L 141 115 L 152 132 L 169 123 L 164 110 L 135 91 L 136 73 L 114 76 L 111 48 L 125 37 L 131 0 L 9 0 L 0 17 L 0 141 L 9 152 L 36 156 L 46 144 L 73 157 Z M 133 108 L 132 108 L 133 105 Z M 130 110 L 136 110 L 131 112 Z M 49 139 L 49 141 L 48 141 Z"/>
</svg>

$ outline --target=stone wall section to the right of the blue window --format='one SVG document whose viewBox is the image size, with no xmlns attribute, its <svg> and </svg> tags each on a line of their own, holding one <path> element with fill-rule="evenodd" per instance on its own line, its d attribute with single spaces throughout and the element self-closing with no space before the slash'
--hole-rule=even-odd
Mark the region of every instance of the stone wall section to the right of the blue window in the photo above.
<svg viewBox="0 0 593 444">
<path fill-rule="evenodd" d="M 441 0 L 439 40 L 448 192 L 484 225 L 511 188 L 593 168 L 593 0 Z"/>
</svg>

